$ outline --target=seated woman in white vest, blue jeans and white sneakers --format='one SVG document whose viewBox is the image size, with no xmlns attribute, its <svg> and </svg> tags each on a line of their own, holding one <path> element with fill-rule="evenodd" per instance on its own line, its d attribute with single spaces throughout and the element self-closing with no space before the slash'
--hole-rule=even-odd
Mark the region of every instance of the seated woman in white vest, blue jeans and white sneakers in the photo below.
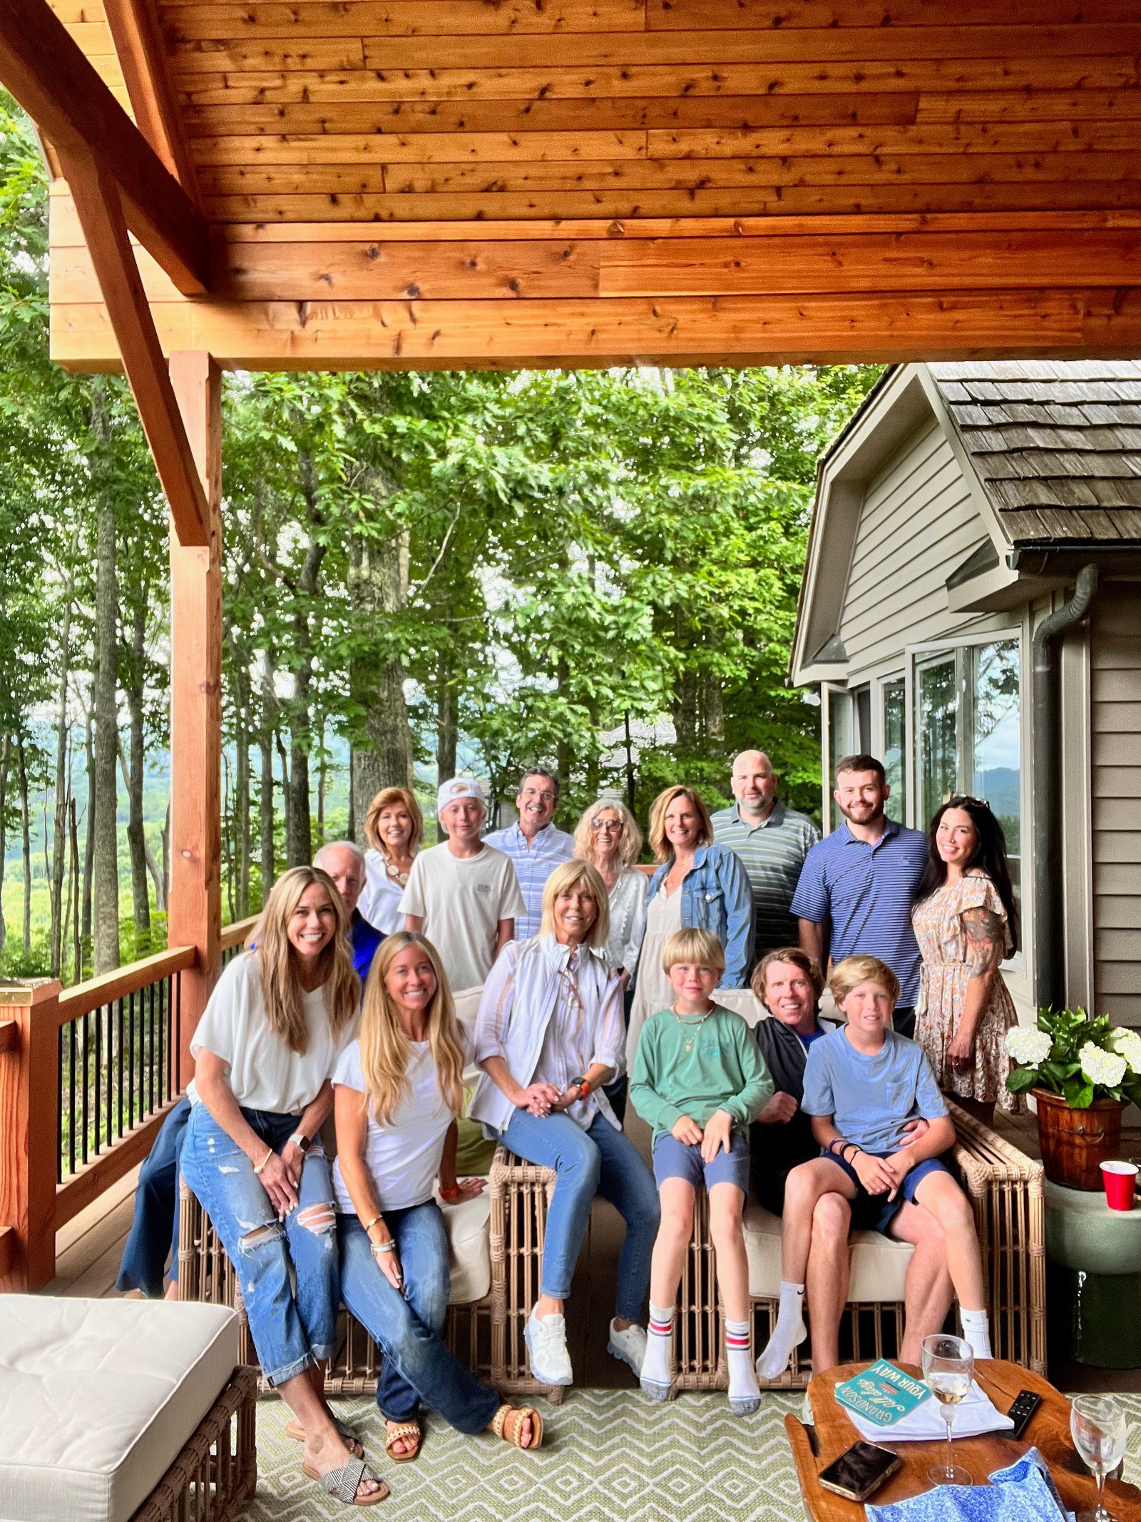
<svg viewBox="0 0 1141 1522">
<path fill-rule="evenodd" d="M 605 883 L 595 868 L 557 866 L 543 890 L 539 935 L 504 947 L 476 1017 L 475 1059 L 484 1078 L 472 1119 L 517 1157 L 557 1173 L 540 1294 L 525 1330 L 531 1373 L 545 1385 L 574 1377 L 563 1303 L 596 1193 L 627 1227 L 607 1350 L 636 1374 L 645 1356 L 640 1321 L 657 1190 L 602 1088 L 622 1070 L 625 1047 L 622 985 L 602 950 L 609 921 Z"/>
</svg>

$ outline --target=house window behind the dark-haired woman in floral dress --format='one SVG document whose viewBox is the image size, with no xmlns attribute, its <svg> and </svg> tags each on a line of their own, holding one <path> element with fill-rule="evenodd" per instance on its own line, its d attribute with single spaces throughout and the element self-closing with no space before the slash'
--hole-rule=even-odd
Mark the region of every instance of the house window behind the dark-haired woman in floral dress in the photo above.
<svg viewBox="0 0 1141 1522">
<path fill-rule="evenodd" d="M 916 826 L 951 793 L 990 805 L 1006 834 L 1010 880 L 1021 900 L 1022 763 L 1016 639 L 963 645 L 916 661 Z M 887 749 L 887 686 L 884 747 Z"/>
</svg>

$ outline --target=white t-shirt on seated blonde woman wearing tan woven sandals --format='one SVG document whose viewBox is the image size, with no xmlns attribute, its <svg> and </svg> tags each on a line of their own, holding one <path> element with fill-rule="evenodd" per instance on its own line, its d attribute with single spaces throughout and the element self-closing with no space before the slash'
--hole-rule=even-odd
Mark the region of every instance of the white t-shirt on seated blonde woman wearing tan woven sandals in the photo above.
<svg viewBox="0 0 1141 1522">
<path fill-rule="evenodd" d="M 406 1210 L 432 1198 L 432 1186 L 440 1172 L 444 1135 L 455 1119 L 440 1097 L 432 1049 L 426 1041 L 412 1041 L 408 1059 L 408 1088 L 393 1111 L 388 1125 L 368 1117 L 365 1166 L 373 1178 L 376 1199 L 382 1210 Z M 333 1084 L 365 1090 L 361 1070 L 361 1043 L 353 1041 L 341 1053 Z M 356 1205 L 341 1175 L 341 1158 L 333 1163 L 336 1208 L 354 1216 Z"/>
</svg>

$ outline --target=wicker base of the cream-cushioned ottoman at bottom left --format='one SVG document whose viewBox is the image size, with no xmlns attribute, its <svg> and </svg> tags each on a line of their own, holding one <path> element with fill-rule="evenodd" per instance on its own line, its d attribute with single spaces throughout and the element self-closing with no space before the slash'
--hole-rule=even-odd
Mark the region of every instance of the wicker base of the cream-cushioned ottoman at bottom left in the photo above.
<svg viewBox="0 0 1141 1522">
<path fill-rule="evenodd" d="M 257 1489 L 257 1370 L 239 1367 L 131 1522 L 231 1522 Z"/>
</svg>

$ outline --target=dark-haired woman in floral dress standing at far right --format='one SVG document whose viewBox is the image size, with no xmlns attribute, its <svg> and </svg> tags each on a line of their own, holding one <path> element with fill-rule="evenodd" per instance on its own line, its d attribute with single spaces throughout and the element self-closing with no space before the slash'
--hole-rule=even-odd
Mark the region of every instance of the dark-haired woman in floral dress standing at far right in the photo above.
<svg viewBox="0 0 1141 1522">
<path fill-rule="evenodd" d="M 930 836 L 911 912 L 923 956 L 916 1041 L 943 1093 L 989 1123 L 995 1100 L 1021 1108 L 1006 1087 L 1006 1033 L 1018 1024 L 1000 973 L 1018 938 L 1006 839 L 987 805 L 963 796 L 936 810 Z"/>
</svg>

